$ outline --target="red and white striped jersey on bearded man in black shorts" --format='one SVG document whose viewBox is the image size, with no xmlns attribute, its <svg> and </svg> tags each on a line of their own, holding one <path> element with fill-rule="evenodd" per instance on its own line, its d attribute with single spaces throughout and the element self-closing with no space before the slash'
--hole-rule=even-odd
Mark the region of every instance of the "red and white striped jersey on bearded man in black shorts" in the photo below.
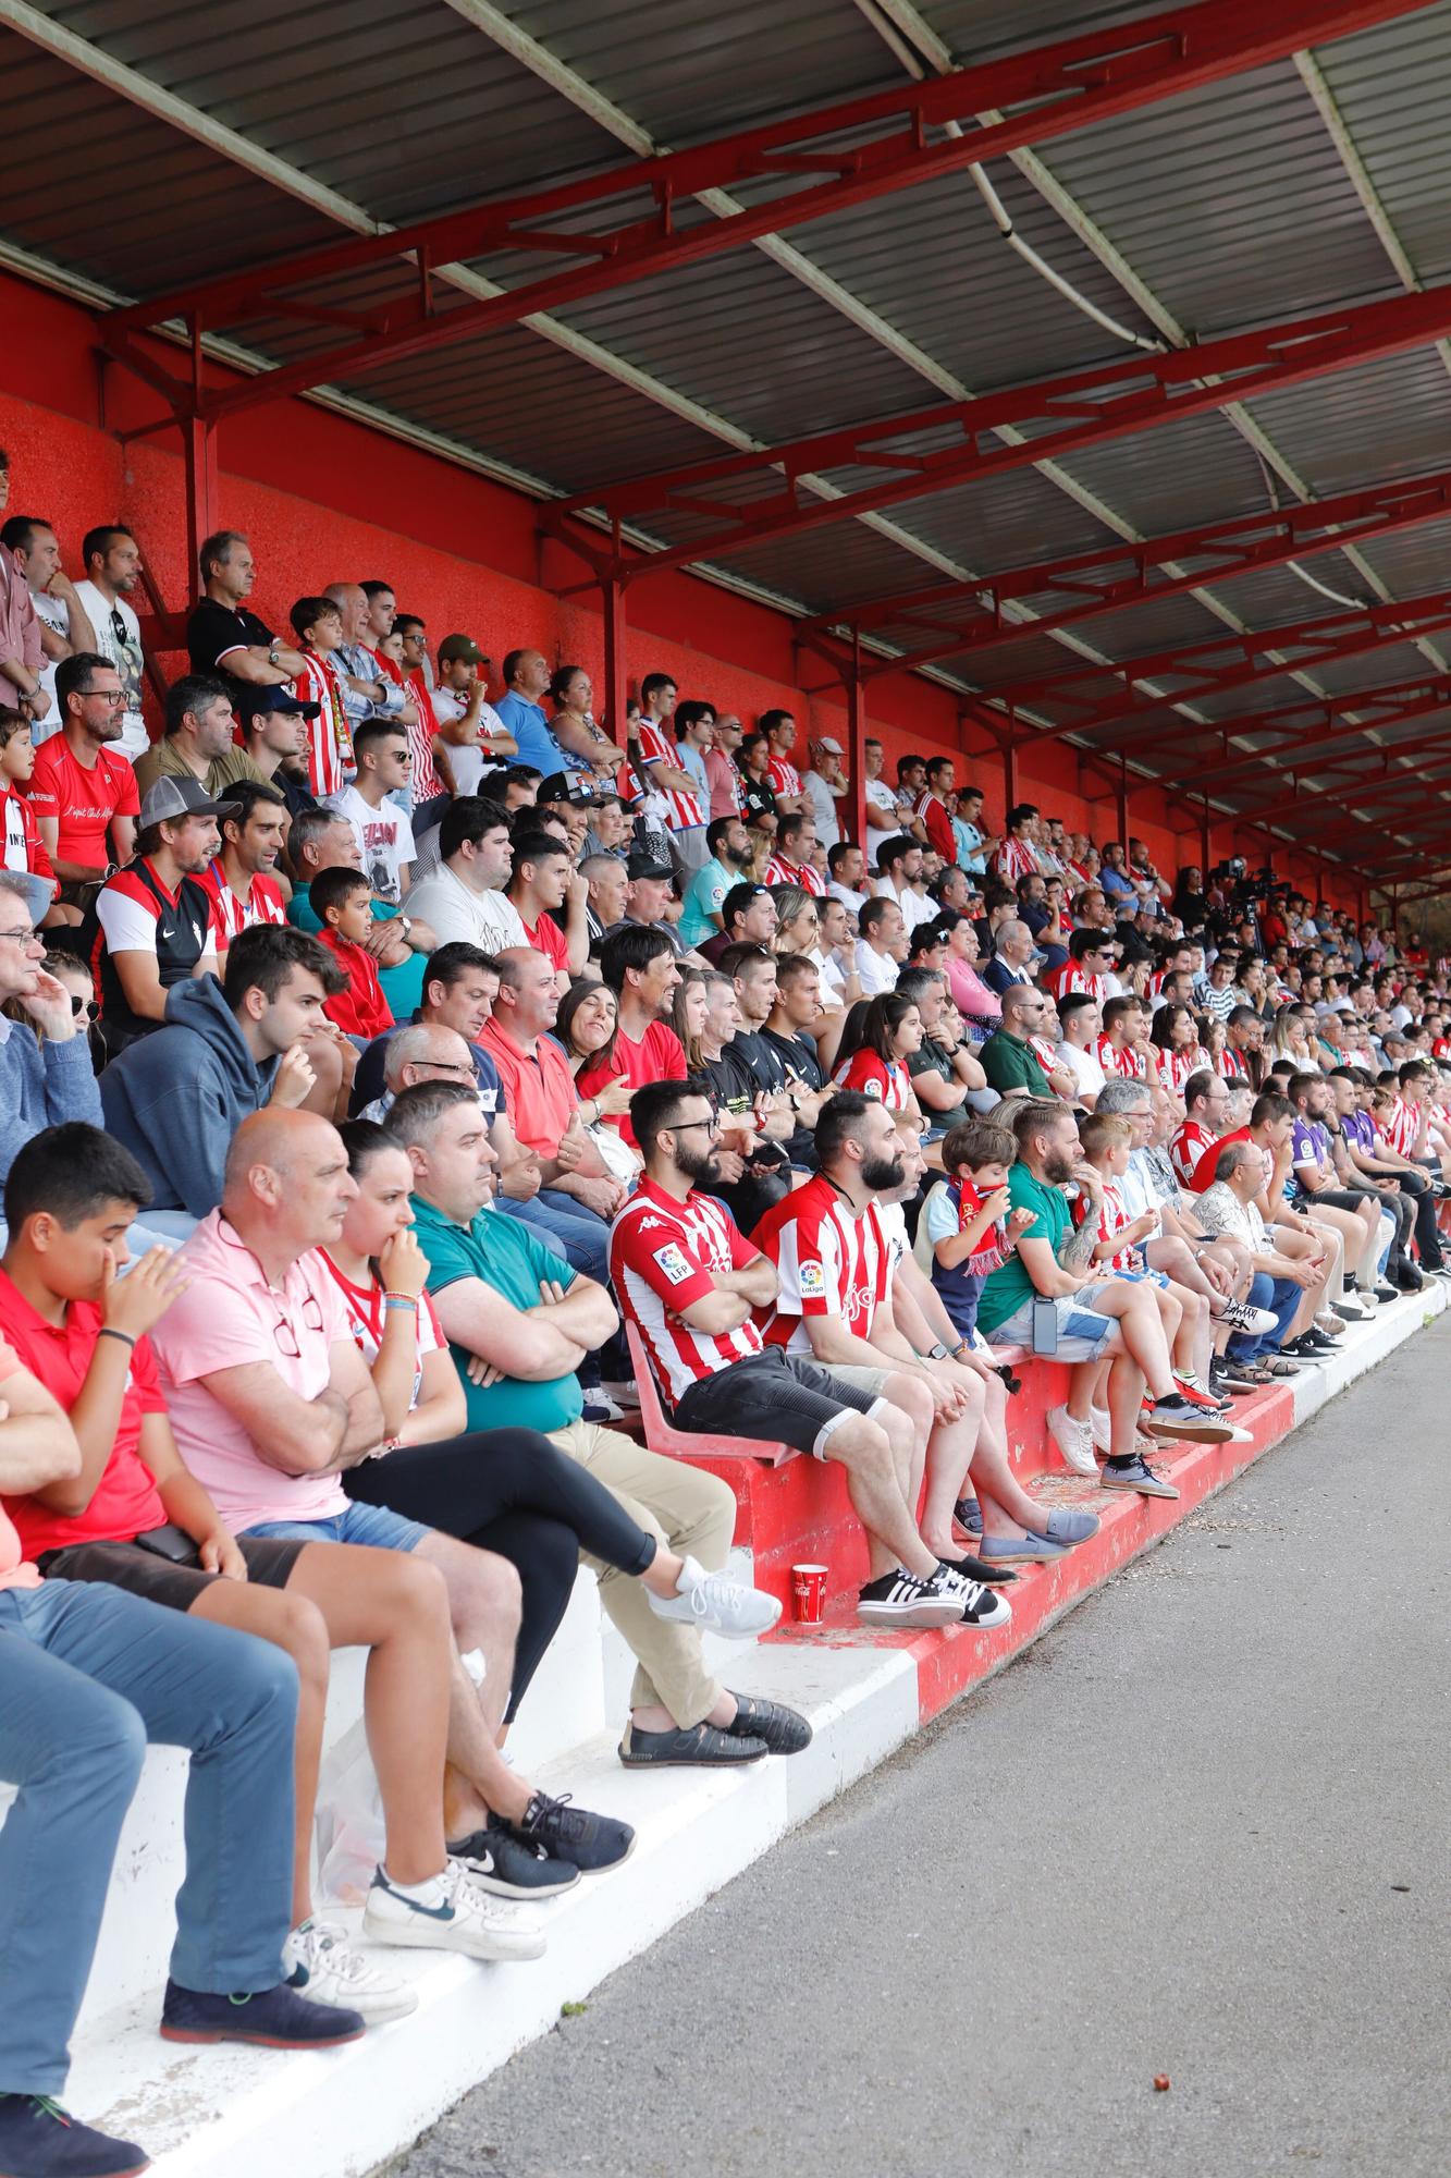
<svg viewBox="0 0 1451 2178">
<path fill-rule="evenodd" d="M 610 1285 L 645 1342 L 649 1368 L 667 1405 L 732 1361 L 760 1353 L 760 1331 L 747 1318 L 736 1331 L 691 1331 L 680 1311 L 715 1292 L 723 1270 L 760 1255 L 712 1196 L 684 1202 L 654 1180 L 641 1180 L 610 1226 Z"/>
</svg>

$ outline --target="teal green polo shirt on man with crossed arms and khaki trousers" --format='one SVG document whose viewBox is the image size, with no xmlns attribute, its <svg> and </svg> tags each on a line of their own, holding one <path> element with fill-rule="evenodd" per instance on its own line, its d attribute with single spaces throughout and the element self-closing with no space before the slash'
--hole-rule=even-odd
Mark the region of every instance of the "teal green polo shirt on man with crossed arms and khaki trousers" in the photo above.
<svg viewBox="0 0 1451 2178">
<path fill-rule="evenodd" d="M 575 1270 L 529 1233 L 516 1218 L 484 1209 L 471 1226 L 444 1218 L 420 1196 L 412 1198 L 418 1246 L 429 1259 L 429 1294 L 442 1294 L 460 1278 L 481 1278 L 514 1309 L 536 1309 L 540 1278 L 553 1278 L 564 1292 L 575 1283 Z M 569 1429 L 580 1420 L 584 1394 L 577 1376 L 551 1376 L 547 1383 L 523 1383 L 503 1376 L 481 1387 L 468 1383 L 468 1348 L 449 1346 L 458 1381 L 468 1403 L 468 1429 Z"/>
</svg>

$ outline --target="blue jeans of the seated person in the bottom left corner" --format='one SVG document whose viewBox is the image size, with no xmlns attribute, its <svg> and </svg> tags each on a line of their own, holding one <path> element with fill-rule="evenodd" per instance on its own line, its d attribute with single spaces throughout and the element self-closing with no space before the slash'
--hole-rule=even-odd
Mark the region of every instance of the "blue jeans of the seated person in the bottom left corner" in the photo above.
<svg viewBox="0 0 1451 2178">
<path fill-rule="evenodd" d="M 0 2091 L 59 2095 L 148 1742 L 187 1747 L 170 1973 L 257 1993 L 292 1925 L 296 1666 L 98 1581 L 0 1588 Z"/>
</svg>

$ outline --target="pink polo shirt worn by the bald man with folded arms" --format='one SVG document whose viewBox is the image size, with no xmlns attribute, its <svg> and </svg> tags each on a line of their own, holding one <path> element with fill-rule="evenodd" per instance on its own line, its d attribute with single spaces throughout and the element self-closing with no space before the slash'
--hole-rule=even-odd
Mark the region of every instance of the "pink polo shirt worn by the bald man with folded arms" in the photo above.
<svg viewBox="0 0 1451 2178">
<path fill-rule="evenodd" d="M 266 1466 L 242 1422 L 203 1383 L 216 1370 L 266 1361 L 298 1398 L 316 1398 L 331 1379 L 333 1342 L 353 1344 L 327 1265 L 303 1255 L 281 1287 L 268 1285 L 220 1211 L 203 1218 L 176 1261 L 192 1285 L 150 1344 L 181 1457 L 233 1533 L 259 1520 L 333 1520 L 349 1507 L 340 1479 Z"/>
</svg>

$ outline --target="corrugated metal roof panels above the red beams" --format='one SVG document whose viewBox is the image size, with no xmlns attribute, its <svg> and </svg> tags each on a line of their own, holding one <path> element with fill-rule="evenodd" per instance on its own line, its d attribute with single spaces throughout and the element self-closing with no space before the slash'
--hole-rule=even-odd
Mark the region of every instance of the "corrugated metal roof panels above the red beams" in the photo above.
<svg viewBox="0 0 1451 2178">
<path fill-rule="evenodd" d="M 625 157 L 614 131 L 447 0 L 355 0 L 346 11 L 214 0 L 205 13 L 190 0 L 68 0 L 48 13 L 294 170 L 277 185 L 242 172 L 0 33 L 11 118 L 4 233 L 126 294 L 340 233 L 298 200 L 318 185 L 342 192 L 370 220 L 397 222 Z M 959 61 L 983 61 L 1133 24 L 1155 13 L 1155 0 L 926 0 L 922 13 Z M 660 144 L 902 81 L 900 57 L 850 0 L 741 0 L 726 13 L 706 0 L 660 0 L 647 13 L 627 0 L 523 0 L 510 15 Z M 1318 63 L 1414 272 L 1451 279 L 1451 0 L 1338 41 Z M 1292 61 L 1078 131 L 1048 146 L 1044 166 L 1198 338 L 1399 292 Z M 1094 305 L 1150 331 L 1089 242 L 1009 161 L 991 172 L 1020 233 Z M 706 218 L 699 205 L 680 207 L 682 224 Z M 1120 353 L 1113 333 L 1004 246 L 967 176 L 863 205 L 789 240 L 841 285 L 845 311 L 763 250 L 736 248 L 573 305 L 560 320 L 564 346 L 519 325 L 407 364 L 383 362 L 349 379 L 349 390 L 403 423 L 580 492 L 712 455 L 734 433 L 773 444 L 926 407 L 943 399 L 943 375 L 987 392 Z M 512 283 L 534 277 L 536 264 L 499 257 L 479 270 Z M 394 261 L 322 283 L 318 298 L 377 307 L 407 281 Z M 852 309 L 885 320 L 926 366 L 852 322 Z M 227 331 L 279 359 L 336 340 L 333 329 L 277 314 Z M 582 353 L 566 353 L 569 344 Z M 1449 396 L 1444 364 L 1423 351 L 1257 401 L 1253 420 L 1325 494 L 1451 462 Z M 695 407 L 702 414 L 693 420 Z M 1033 427 L 1028 436 L 1037 436 Z M 941 442 L 941 433 L 919 440 Z M 904 501 L 891 510 L 904 542 L 841 521 L 743 544 L 721 564 L 808 610 L 839 610 L 935 579 L 941 558 L 985 575 L 1102 547 L 1113 529 L 1096 505 L 1109 523 L 1153 536 L 1268 503 L 1259 462 L 1220 416 L 1078 453 L 1063 475 L 1072 490 L 1024 466 Z M 848 490 L 878 479 L 880 470 L 863 466 L 832 473 Z M 773 490 L 776 479 L 756 475 L 717 497 L 743 505 Z M 706 514 L 680 510 L 649 523 L 664 542 L 715 527 Z M 922 553 L 911 551 L 913 538 Z M 1364 555 L 1392 595 L 1440 586 L 1451 579 L 1451 521 L 1373 542 Z M 1368 590 L 1340 551 L 1307 564 L 1346 597 Z M 1222 584 L 1218 597 L 1251 627 L 1333 610 L 1283 568 Z M 1211 638 L 1218 625 L 1183 597 L 1105 614 L 1078 634 L 1111 658 L 1131 658 Z M 911 629 L 891 634 L 919 640 Z M 1011 649 L 983 660 L 967 653 L 956 664 L 965 682 L 1002 686 L 1070 662 L 1061 643 L 1024 632 Z M 1420 651 L 1399 645 L 1316 677 L 1340 690 L 1418 671 Z M 1279 677 L 1259 684 L 1253 703 L 1301 695 L 1296 682 Z M 1251 703 L 1224 697 L 1198 708 L 1231 717 Z M 1168 714 L 1163 745 L 1135 758 L 1172 778 L 1181 749 Z"/>
</svg>

